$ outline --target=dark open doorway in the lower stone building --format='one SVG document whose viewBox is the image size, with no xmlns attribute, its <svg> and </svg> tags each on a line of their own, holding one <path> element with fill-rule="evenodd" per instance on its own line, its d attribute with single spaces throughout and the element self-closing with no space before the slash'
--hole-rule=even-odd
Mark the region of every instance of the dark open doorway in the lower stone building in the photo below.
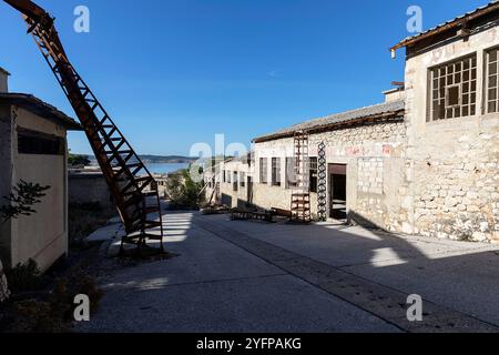
<svg viewBox="0 0 499 355">
<path fill-rule="evenodd" d="M 347 219 L 346 165 L 329 164 L 329 217 Z"/>
</svg>

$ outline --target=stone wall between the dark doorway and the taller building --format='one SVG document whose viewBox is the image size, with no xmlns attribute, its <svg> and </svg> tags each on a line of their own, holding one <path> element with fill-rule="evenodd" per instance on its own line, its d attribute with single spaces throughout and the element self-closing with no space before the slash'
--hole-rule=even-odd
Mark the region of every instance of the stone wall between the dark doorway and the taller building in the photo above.
<svg viewBox="0 0 499 355">
<path fill-rule="evenodd" d="M 398 219 L 407 214 L 398 191 L 407 184 L 401 170 L 407 144 L 405 121 L 398 118 L 314 134 L 310 155 L 317 155 L 322 141 L 326 144 L 327 164 L 347 164 L 349 217 L 400 232 L 403 223 Z"/>
</svg>

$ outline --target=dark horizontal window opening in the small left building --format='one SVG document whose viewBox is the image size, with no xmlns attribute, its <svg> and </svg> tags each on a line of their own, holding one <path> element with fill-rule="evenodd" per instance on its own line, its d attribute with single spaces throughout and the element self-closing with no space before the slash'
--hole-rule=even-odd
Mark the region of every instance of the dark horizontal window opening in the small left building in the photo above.
<svg viewBox="0 0 499 355">
<path fill-rule="evenodd" d="M 20 154 L 64 155 L 64 139 L 18 129 L 18 152 Z"/>
</svg>

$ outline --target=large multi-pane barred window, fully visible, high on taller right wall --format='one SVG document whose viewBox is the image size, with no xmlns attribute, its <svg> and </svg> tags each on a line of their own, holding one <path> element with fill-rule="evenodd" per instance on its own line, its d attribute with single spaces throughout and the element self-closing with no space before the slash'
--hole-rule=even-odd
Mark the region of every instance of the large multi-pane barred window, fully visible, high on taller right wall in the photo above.
<svg viewBox="0 0 499 355">
<path fill-rule="evenodd" d="M 497 73 L 497 61 L 495 69 L 495 73 Z M 431 69 L 430 81 L 431 112 L 428 118 L 429 121 L 476 114 L 476 54 Z"/>
</svg>

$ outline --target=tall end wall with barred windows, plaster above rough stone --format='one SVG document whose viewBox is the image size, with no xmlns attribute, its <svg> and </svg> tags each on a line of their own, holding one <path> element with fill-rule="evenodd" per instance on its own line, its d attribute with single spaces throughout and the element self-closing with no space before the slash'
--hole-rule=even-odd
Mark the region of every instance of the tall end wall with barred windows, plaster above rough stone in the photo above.
<svg viewBox="0 0 499 355">
<path fill-rule="evenodd" d="M 496 28 L 420 53 L 406 64 L 408 123 L 405 191 L 410 233 L 442 239 L 499 240 L 499 114 L 482 114 L 485 50 L 499 44 Z M 477 54 L 477 114 L 427 122 L 428 69 Z"/>
</svg>

